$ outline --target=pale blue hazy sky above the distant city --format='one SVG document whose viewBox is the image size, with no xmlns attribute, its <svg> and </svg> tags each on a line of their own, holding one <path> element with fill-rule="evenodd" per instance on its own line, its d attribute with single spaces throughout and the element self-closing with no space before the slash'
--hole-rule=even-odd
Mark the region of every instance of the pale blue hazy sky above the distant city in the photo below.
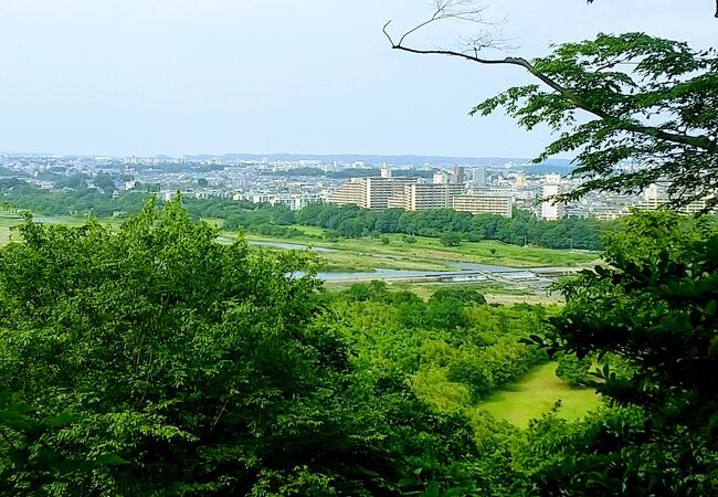
<svg viewBox="0 0 718 497">
<path fill-rule="evenodd" d="M 488 3 L 488 2 L 487 2 Z M 531 80 L 390 50 L 426 0 L 2 0 L 0 151 L 534 157 L 546 129 L 468 117 Z M 599 32 L 715 46 L 714 0 L 494 0 L 513 55 Z M 415 38 L 454 46 L 456 27 Z"/>
</svg>

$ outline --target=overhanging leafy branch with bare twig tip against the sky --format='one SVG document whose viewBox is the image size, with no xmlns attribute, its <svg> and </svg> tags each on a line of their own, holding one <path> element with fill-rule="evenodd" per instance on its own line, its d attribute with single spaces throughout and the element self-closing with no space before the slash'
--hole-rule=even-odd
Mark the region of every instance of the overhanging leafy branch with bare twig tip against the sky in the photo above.
<svg viewBox="0 0 718 497">
<path fill-rule="evenodd" d="M 482 10 L 466 0 L 437 0 L 434 14 L 394 40 L 394 50 L 441 54 L 485 65 L 514 65 L 539 84 L 518 86 L 484 101 L 471 114 L 488 115 L 501 107 L 531 129 L 546 124 L 560 133 L 536 159 L 576 155 L 572 172 L 585 181 L 557 200 L 590 191 L 636 192 L 666 181 L 672 203 L 697 200 L 718 205 L 718 52 L 644 33 L 600 34 L 566 43 L 546 57 L 528 61 L 479 56 L 496 46 L 490 31 L 471 39 L 463 50 L 424 50 L 405 44 L 430 23 L 446 19 L 485 22 Z M 630 67 L 630 70 L 626 70 Z M 581 113 L 581 116 L 579 116 Z M 589 119 L 587 120 L 585 117 Z M 621 169 L 626 161 L 637 170 Z"/>
</svg>

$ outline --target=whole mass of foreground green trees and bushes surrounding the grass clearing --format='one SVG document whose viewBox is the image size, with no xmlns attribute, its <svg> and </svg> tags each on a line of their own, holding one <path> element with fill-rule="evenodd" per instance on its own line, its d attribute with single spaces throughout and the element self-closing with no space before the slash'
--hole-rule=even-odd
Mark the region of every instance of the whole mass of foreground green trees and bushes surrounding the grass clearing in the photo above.
<svg viewBox="0 0 718 497">
<path fill-rule="evenodd" d="M 119 230 L 28 219 L 19 232 L 0 251 L 3 495 L 708 495 L 716 482 L 711 223 L 630 219 L 608 240 L 612 268 L 568 282 L 564 308 L 492 306 L 462 286 L 327 293 L 312 253 L 219 244 L 179 199 Z M 610 402 L 527 430 L 475 409 L 556 355 Z M 582 369 L 591 355 L 601 378 Z"/>
</svg>

